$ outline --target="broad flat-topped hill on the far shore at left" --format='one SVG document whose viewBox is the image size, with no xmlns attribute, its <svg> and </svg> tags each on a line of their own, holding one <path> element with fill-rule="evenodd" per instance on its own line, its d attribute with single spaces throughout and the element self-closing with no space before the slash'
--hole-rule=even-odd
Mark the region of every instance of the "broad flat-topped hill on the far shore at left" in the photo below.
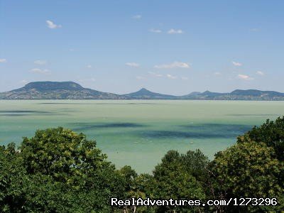
<svg viewBox="0 0 284 213">
<path fill-rule="evenodd" d="M 121 99 L 119 94 L 87 89 L 75 82 L 31 82 L 0 93 L 0 99 Z"/>
</svg>

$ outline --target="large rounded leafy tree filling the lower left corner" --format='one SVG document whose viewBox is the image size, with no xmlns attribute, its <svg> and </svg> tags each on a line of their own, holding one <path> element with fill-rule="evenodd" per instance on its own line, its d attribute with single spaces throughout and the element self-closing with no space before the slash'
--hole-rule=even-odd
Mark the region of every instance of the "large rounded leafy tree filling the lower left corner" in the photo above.
<svg viewBox="0 0 284 213">
<path fill-rule="evenodd" d="M 0 148 L 1 212 L 114 212 L 126 182 L 82 133 L 46 129 Z"/>
</svg>

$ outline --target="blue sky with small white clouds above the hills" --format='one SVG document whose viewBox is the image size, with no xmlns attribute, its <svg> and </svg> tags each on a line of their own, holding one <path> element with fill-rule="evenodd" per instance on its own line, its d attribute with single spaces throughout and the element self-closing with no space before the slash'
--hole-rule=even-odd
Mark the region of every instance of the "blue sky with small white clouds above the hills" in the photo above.
<svg viewBox="0 0 284 213">
<path fill-rule="evenodd" d="M 0 0 L 0 91 L 284 92 L 284 1 Z"/>
</svg>

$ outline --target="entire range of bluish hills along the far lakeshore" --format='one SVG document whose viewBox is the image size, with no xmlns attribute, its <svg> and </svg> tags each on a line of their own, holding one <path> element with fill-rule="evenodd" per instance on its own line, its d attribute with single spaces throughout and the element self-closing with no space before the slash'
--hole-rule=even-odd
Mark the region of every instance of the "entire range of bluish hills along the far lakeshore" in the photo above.
<svg viewBox="0 0 284 213">
<path fill-rule="evenodd" d="M 31 82 L 10 92 L 1 92 L 0 99 L 189 99 L 189 100 L 258 100 L 284 101 L 284 93 L 256 89 L 236 89 L 229 93 L 192 92 L 182 96 L 160 94 L 142 88 L 129 94 L 113 94 L 82 87 L 75 82 Z"/>
</svg>

